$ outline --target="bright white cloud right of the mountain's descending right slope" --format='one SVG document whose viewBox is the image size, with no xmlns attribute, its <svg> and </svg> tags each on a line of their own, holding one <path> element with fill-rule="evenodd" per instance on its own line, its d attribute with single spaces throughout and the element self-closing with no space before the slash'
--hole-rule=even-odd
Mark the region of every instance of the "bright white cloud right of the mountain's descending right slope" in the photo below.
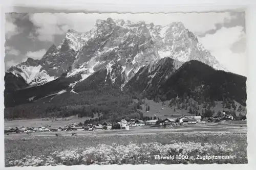
<svg viewBox="0 0 256 170">
<path fill-rule="evenodd" d="M 204 47 L 210 51 L 211 55 L 222 63 L 229 71 L 246 76 L 247 60 L 245 54 L 245 33 L 243 27 L 222 27 L 215 34 L 206 34 L 199 38 Z M 234 44 L 240 44 L 240 51 L 232 51 Z M 244 47 L 242 47 L 244 46 Z"/>
</svg>

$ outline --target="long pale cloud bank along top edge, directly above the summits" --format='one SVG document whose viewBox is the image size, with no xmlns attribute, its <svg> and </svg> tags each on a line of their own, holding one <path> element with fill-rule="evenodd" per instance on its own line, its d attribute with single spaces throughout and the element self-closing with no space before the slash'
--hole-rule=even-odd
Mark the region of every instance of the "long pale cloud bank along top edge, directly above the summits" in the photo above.
<svg viewBox="0 0 256 170">
<path fill-rule="evenodd" d="M 215 29 L 216 23 L 223 23 L 231 18 L 229 12 L 223 13 L 170 13 L 170 14 L 117 14 L 117 13 L 35 13 L 30 14 L 30 20 L 35 25 L 37 38 L 40 41 L 54 41 L 54 35 L 67 33 L 68 29 L 74 29 L 78 32 L 90 31 L 97 19 L 131 20 L 138 22 L 144 20 L 146 23 L 153 22 L 155 25 L 168 25 L 174 21 L 181 21 L 185 27 L 192 32 L 204 33 Z M 48 18 L 48 19 L 46 19 Z"/>
</svg>

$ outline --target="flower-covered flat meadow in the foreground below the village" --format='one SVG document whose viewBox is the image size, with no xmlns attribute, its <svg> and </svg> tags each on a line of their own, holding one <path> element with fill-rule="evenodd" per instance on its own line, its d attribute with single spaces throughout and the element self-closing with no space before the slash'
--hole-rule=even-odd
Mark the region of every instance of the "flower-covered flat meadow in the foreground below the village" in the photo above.
<svg viewBox="0 0 256 170">
<path fill-rule="evenodd" d="M 10 134 L 5 136 L 6 166 L 78 164 L 247 163 L 246 122 L 134 127 L 126 130 Z M 155 159 L 155 155 L 184 155 Z M 197 156 L 201 156 L 197 159 Z M 215 159 L 203 156 L 234 156 Z M 187 156 L 187 157 L 186 157 Z"/>
</svg>

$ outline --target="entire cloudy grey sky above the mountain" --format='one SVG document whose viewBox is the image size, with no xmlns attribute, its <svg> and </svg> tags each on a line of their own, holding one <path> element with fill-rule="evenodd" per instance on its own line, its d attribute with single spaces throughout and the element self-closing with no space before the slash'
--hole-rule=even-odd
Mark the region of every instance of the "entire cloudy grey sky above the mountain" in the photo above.
<svg viewBox="0 0 256 170">
<path fill-rule="evenodd" d="M 84 13 L 8 13 L 6 14 L 6 56 L 9 67 L 40 59 L 52 45 L 58 45 L 68 29 L 86 32 L 96 19 L 144 20 L 155 25 L 181 21 L 229 71 L 243 76 L 246 72 L 245 13 L 172 13 L 172 14 L 84 14 Z"/>
</svg>

